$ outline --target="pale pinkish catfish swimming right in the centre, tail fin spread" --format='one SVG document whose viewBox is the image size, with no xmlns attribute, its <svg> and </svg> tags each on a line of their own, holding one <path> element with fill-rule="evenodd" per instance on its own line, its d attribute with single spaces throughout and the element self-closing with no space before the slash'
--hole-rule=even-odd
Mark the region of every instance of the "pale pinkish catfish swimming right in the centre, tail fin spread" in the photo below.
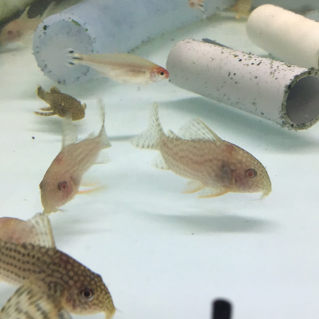
<svg viewBox="0 0 319 319">
<path fill-rule="evenodd" d="M 200 192 L 198 197 L 216 197 L 228 192 L 258 193 L 267 196 L 271 182 L 265 167 L 249 152 L 222 140 L 201 119 L 181 128 L 181 136 L 165 135 L 155 103 L 149 128 L 131 139 L 138 148 L 158 150 L 162 159 L 155 163 L 186 177 L 185 193 Z"/>
</svg>

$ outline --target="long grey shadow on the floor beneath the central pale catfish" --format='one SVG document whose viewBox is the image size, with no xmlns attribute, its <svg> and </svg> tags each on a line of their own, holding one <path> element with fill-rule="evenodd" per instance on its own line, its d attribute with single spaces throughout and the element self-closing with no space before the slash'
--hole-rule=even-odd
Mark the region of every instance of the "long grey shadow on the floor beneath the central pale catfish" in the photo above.
<svg viewBox="0 0 319 319">
<path fill-rule="evenodd" d="M 149 215 L 155 222 L 187 230 L 191 234 L 204 233 L 264 233 L 278 228 L 274 222 L 238 215 Z"/>
</svg>

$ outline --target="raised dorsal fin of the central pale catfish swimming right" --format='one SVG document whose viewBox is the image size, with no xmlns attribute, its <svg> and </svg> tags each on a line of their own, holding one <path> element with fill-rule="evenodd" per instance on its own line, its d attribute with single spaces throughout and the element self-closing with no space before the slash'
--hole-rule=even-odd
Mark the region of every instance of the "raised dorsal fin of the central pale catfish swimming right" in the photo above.
<svg viewBox="0 0 319 319">
<path fill-rule="evenodd" d="M 186 124 L 184 124 L 180 128 L 178 134 L 180 137 L 188 140 L 209 139 L 215 141 L 217 144 L 223 141 L 199 117 L 194 118 Z"/>
</svg>

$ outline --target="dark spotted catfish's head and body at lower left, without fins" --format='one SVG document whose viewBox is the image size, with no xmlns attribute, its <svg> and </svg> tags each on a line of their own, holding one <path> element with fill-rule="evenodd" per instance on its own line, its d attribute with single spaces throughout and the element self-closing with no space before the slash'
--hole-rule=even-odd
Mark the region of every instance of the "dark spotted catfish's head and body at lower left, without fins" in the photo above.
<svg viewBox="0 0 319 319">
<path fill-rule="evenodd" d="M 105 312 L 106 318 L 115 312 L 101 276 L 53 247 L 0 240 L 0 279 L 34 287 L 54 300 L 58 312 L 63 309 L 79 315 Z"/>
</svg>

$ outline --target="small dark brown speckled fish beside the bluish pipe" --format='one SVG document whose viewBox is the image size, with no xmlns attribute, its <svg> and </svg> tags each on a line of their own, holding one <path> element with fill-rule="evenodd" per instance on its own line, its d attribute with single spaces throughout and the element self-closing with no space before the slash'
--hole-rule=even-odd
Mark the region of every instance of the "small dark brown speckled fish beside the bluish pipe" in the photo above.
<svg viewBox="0 0 319 319">
<path fill-rule="evenodd" d="M 48 103 L 48 108 L 40 108 L 44 112 L 34 112 L 41 116 L 58 115 L 60 117 L 71 116 L 72 121 L 81 120 L 85 115 L 86 104 L 81 104 L 74 97 L 62 93 L 57 87 L 51 87 L 50 92 L 46 92 L 39 85 L 37 94 L 40 99 Z"/>
</svg>

